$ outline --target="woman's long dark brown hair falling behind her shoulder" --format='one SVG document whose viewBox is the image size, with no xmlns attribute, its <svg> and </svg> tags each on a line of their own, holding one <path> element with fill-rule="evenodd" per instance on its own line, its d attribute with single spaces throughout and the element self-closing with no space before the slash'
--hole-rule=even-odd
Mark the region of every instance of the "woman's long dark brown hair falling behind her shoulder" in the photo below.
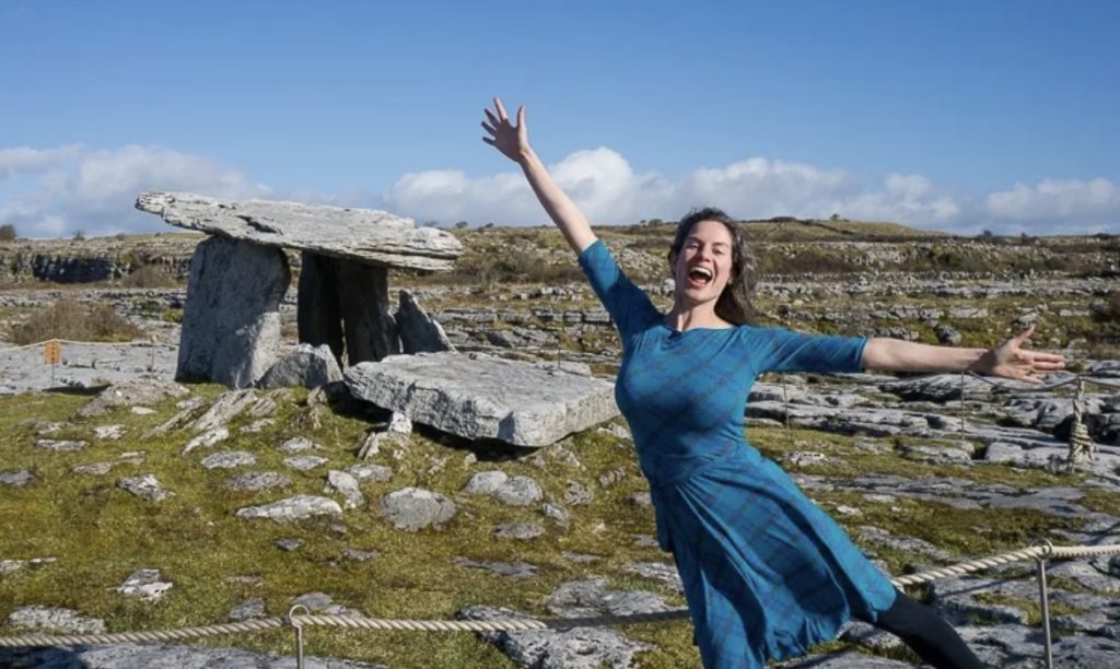
<svg viewBox="0 0 1120 669">
<path fill-rule="evenodd" d="M 747 234 L 740 223 L 716 207 L 692 209 L 676 224 L 676 236 L 673 237 L 673 245 L 669 249 L 669 263 L 673 264 L 684 248 L 684 241 L 692 233 L 692 227 L 701 220 L 721 223 L 731 235 L 731 277 L 716 300 L 716 314 L 736 326 L 748 324 L 758 315 L 750 299 L 755 292 L 755 284 L 758 283 L 758 272 L 750 256 Z"/>
</svg>

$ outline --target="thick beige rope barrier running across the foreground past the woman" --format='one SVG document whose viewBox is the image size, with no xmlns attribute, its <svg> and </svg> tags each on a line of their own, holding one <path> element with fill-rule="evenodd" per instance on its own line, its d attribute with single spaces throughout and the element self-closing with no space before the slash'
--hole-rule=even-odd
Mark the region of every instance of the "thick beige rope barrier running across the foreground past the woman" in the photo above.
<svg viewBox="0 0 1120 669">
<path fill-rule="evenodd" d="M 917 585 L 928 583 L 940 578 L 961 576 L 972 572 L 996 567 L 1014 562 L 1028 559 L 1063 559 L 1071 557 L 1101 556 L 1120 554 L 1120 544 L 1105 546 L 1052 546 L 1048 543 L 1042 546 L 1032 546 L 1021 550 L 1002 553 L 981 559 L 960 563 L 937 569 L 931 569 L 921 574 L 912 574 L 893 578 L 897 587 L 905 585 Z M 351 630 L 395 630 L 395 631 L 420 631 L 420 632 L 500 632 L 500 631 L 528 631 L 528 630 L 564 630 L 572 628 L 589 628 L 605 625 L 625 625 L 650 622 L 663 622 L 671 620 L 682 620 L 689 616 L 688 609 L 670 609 L 653 613 L 635 613 L 629 615 L 604 615 L 597 618 L 508 618 L 496 620 L 394 620 L 381 618 L 363 618 L 360 615 L 326 615 L 326 614 L 300 614 L 292 612 L 287 616 L 263 618 L 246 620 L 235 623 L 204 625 L 197 628 L 181 628 L 177 630 L 157 631 L 133 631 L 114 632 L 108 634 L 24 634 L 19 637 L 0 637 L 0 648 L 32 648 L 50 646 L 78 646 L 85 643 L 138 643 L 144 641 L 181 641 L 186 639 L 197 639 L 202 637 L 214 637 L 217 634 L 233 634 L 239 632 L 256 632 L 262 630 L 274 630 L 280 628 L 292 628 L 298 634 L 302 634 L 306 626 L 333 626 L 346 628 Z M 305 609 L 306 611 L 306 609 Z"/>
</svg>

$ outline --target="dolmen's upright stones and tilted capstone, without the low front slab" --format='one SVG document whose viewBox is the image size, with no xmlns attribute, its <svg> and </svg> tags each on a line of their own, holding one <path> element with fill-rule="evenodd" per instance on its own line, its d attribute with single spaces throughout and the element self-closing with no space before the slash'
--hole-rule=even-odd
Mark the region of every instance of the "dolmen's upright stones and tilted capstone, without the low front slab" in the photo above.
<svg viewBox="0 0 1120 669">
<path fill-rule="evenodd" d="M 402 326 L 412 323 L 412 336 L 402 346 L 388 276 L 390 268 L 451 268 L 463 246 L 446 230 L 372 209 L 181 192 L 146 192 L 136 206 L 211 235 L 190 261 L 177 380 L 245 388 L 277 364 L 280 302 L 291 281 L 283 248 L 300 251 L 300 343 L 326 345 L 343 368 L 402 349 L 447 348 L 446 337 L 432 331 L 438 326 L 416 324 L 418 307 L 405 298 L 398 315 Z"/>
</svg>

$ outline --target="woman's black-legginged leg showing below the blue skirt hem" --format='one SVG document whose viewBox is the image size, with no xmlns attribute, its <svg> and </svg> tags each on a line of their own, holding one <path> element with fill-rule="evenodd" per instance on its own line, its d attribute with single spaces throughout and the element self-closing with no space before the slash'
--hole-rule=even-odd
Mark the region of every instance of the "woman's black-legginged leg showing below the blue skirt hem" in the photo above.
<svg viewBox="0 0 1120 669">
<path fill-rule="evenodd" d="M 872 623 L 900 638 L 906 646 L 937 669 L 983 669 L 964 640 L 948 622 L 925 604 L 920 604 L 903 593 L 895 603 L 879 614 Z"/>
</svg>

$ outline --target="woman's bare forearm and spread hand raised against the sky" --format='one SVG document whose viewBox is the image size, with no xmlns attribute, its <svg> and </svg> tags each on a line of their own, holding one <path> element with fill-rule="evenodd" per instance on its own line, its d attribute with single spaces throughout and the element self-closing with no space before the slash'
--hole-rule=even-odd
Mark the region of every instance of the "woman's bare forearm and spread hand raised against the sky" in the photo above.
<svg viewBox="0 0 1120 669">
<path fill-rule="evenodd" d="M 529 145 L 529 129 L 525 126 L 525 107 L 517 110 L 517 124 L 510 123 L 510 117 L 505 113 L 501 98 L 494 98 L 494 110 L 486 110 L 486 121 L 483 121 L 483 129 L 491 136 L 483 138 L 483 141 L 502 152 L 503 156 L 521 166 L 525 172 L 525 179 L 536 194 L 536 199 L 548 211 L 552 223 L 560 228 L 568 246 L 577 254 L 595 243 L 596 236 L 591 232 L 584 213 L 579 210 L 576 202 L 557 186 L 552 180 L 552 175 L 544 169 L 544 163 L 536 157 Z"/>
</svg>

